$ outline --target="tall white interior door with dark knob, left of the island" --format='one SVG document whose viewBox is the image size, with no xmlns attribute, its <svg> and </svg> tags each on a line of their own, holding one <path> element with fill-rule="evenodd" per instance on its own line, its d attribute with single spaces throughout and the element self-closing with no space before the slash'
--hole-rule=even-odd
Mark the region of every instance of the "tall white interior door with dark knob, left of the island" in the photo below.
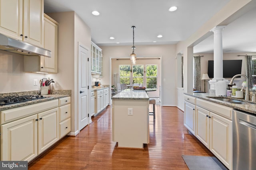
<svg viewBox="0 0 256 170">
<path fill-rule="evenodd" d="M 88 57 L 89 50 L 79 45 L 78 56 L 78 93 L 79 93 L 79 131 L 89 123 L 88 110 Z"/>
</svg>

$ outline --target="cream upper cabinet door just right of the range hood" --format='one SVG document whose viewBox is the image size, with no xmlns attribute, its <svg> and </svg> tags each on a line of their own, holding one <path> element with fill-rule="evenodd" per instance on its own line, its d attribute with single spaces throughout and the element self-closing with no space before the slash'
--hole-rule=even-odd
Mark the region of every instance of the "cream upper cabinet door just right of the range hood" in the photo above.
<svg viewBox="0 0 256 170">
<path fill-rule="evenodd" d="M 40 71 L 57 73 L 58 23 L 44 15 L 44 48 L 52 52 L 52 57 L 40 57 Z"/>
</svg>

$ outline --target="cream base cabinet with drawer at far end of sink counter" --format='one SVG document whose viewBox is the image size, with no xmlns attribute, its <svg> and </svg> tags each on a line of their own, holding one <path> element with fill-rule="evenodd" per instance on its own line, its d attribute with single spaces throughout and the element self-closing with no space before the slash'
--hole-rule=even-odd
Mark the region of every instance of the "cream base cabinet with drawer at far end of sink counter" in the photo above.
<svg viewBox="0 0 256 170">
<path fill-rule="evenodd" d="M 196 98 L 184 96 L 184 126 L 195 135 L 196 131 Z"/>
</svg>

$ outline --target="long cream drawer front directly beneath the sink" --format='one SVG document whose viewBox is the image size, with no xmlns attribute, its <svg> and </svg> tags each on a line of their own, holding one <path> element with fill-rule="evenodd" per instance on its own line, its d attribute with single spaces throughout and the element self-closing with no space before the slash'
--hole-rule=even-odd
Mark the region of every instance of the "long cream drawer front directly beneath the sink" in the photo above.
<svg viewBox="0 0 256 170">
<path fill-rule="evenodd" d="M 206 100 L 197 99 L 196 106 L 203 107 L 210 110 L 218 115 L 222 115 L 228 119 L 232 119 L 232 108 L 227 106 L 222 106 L 220 104 L 215 104 L 213 102 L 208 102 Z"/>
</svg>

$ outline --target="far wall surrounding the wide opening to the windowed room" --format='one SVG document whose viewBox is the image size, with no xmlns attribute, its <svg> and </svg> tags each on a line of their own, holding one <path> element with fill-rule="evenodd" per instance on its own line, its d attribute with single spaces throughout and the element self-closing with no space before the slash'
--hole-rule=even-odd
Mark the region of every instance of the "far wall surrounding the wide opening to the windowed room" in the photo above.
<svg viewBox="0 0 256 170">
<path fill-rule="evenodd" d="M 110 84 L 110 58 L 129 57 L 131 46 L 101 46 L 102 84 Z M 137 57 L 162 57 L 162 106 L 176 106 L 176 45 L 136 45 Z M 165 80 L 165 81 L 164 81 Z"/>
</svg>

